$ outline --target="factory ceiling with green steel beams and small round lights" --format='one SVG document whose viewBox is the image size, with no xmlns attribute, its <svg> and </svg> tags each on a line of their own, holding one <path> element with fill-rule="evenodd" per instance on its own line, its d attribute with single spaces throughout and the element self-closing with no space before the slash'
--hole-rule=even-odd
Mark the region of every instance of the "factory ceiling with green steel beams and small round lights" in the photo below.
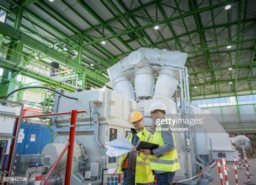
<svg viewBox="0 0 256 185">
<path fill-rule="evenodd" d="M 23 40 L 24 53 L 85 72 L 96 86 L 132 51 L 156 47 L 188 53 L 191 96 L 256 90 L 254 0 L 1 0 L 0 8 L 5 45 Z"/>
</svg>

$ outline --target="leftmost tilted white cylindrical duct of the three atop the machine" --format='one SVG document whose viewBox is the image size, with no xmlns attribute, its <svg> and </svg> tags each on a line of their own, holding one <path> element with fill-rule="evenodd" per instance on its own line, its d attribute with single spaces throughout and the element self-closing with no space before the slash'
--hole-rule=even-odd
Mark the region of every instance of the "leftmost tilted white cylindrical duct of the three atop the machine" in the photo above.
<svg viewBox="0 0 256 185">
<path fill-rule="evenodd" d="M 120 95 L 134 99 L 131 81 L 126 77 L 118 77 L 113 80 L 113 89 Z"/>
</svg>

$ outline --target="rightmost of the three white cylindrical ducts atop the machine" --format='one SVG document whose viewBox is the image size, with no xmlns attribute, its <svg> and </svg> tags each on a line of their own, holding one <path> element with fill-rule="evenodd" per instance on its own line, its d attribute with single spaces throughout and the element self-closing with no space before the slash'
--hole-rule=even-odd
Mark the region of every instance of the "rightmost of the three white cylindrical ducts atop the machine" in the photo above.
<svg viewBox="0 0 256 185">
<path fill-rule="evenodd" d="M 172 75 L 170 75 L 169 73 Z M 171 98 L 177 89 L 177 74 L 173 70 L 165 69 L 160 70 L 159 76 L 154 88 L 154 98 L 156 97 L 167 97 Z M 174 80 L 176 79 L 176 81 Z"/>
</svg>

